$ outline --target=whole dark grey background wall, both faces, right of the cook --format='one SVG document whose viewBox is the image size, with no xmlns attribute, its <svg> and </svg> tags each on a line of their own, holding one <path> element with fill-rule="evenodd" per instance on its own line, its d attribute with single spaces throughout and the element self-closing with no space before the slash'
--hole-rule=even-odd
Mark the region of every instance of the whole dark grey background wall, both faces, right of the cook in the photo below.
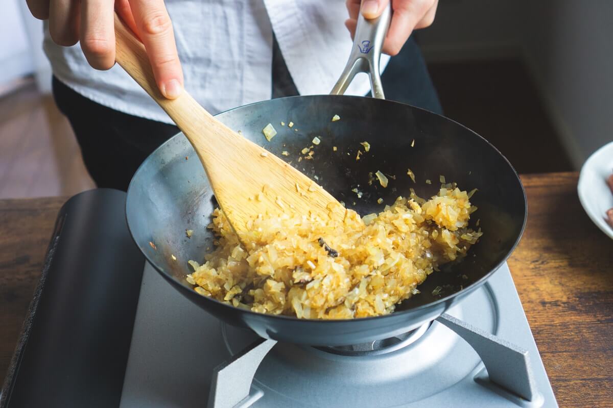
<svg viewBox="0 0 613 408">
<path fill-rule="evenodd" d="M 613 2 L 441 0 L 428 62 L 517 59 L 575 169 L 613 140 Z"/>
</svg>

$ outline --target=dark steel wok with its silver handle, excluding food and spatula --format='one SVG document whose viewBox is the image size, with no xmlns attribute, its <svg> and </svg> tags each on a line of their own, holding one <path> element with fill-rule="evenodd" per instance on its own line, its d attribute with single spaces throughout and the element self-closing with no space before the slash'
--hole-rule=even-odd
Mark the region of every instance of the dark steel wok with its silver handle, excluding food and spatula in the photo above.
<svg viewBox="0 0 613 408">
<path fill-rule="evenodd" d="M 365 71 L 370 73 L 373 95 L 383 97 L 377 64 L 389 10 L 379 21 L 368 23 L 360 21 L 354 53 L 333 92 L 343 92 L 356 72 Z M 367 45 L 372 53 L 363 53 L 364 38 L 370 39 Z M 343 346 L 389 338 L 432 321 L 460 302 L 487 281 L 519 242 L 527 211 L 524 188 L 509 161 L 470 129 L 424 109 L 381 98 L 287 97 L 241 106 L 216 117 L 291 162 L 361 215 L 383 210 L 385 203 L 390 204 L 399 195 L 407 196 L 409 188 L 422 197 L 435 195 L 440 175 L 462 189 L 478 188 L 471 199 L 479 207 L 471 226 L 475 228 L 476 221 L 481 220 L 484 235 L 462 262 L 432 273 L 419 286 L 421 293 L 402 302 L 394 313 L 336 321 L 297 319 L 235 308 L 194 291 L 185 279 L 192 272 L 187 261 L 202 261 L 213 247 L 214 237 L 207 225 L 216 202 L 200 161 L 181 133 L 142 163 L 128 188 L 128 226 L 147 261 L 208 313 L 264 338 L 291 343 Z M 335 114 L 340 121 L 330 120 Z M 282 121 L 295 125 L 283 127 Z M 268 123 L 278 131 L 270 142 L 262 135 Z M 313 160 L 299 162 L 300 150 L 311 146 L 314 136 L 319 136 L 321 144 L 314 149 Z M 370 152 L 356 160 L 363 141 L 370 143 Z M 281 155 L 283 150 L 290 155 Z M 416 183 L 406 176 L 408 168 L 414 172 Z M 397 177 L 390 179 L 387 188 L 376 181 L 368 185 L 368 173 L 377 170 Z M 265 178 L 262 174 L 262 180 Z M 432 184 L 426 184 L 427 179 Z M 352 188 L 363 191 L 362 198 Z M 379 198 L 384 199 L 383 204 L 377 204 Z M 186 229 L 194 230 L 191 238 L 186 236 Z M 439 286 L 442 291 L 433 294 Z"/>
</svg>

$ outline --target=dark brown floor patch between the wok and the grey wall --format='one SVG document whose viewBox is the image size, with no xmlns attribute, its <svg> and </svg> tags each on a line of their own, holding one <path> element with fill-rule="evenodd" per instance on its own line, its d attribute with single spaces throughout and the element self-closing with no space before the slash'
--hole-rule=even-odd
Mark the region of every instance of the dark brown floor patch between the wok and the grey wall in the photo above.
<svg viewBox="0 0 613 408">
<path fill-rule="evenodd" d="M 518 172 L 573 170 L 522 61 L 437 62 L 428 70 L 444 115 L 489 140 Z"/>
</svg>

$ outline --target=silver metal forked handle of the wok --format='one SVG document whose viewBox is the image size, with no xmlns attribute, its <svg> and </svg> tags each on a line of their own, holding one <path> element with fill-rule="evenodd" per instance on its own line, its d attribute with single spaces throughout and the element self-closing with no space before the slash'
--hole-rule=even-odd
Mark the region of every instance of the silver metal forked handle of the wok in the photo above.
<svg viewBox="0 0 613 408">
<path fill-rule="evenodd" d="M 349 61 L 347 61 L 345 70 L 343 70 L 340 78 L 338 78 L 337 84 L 332 88 L 330 95 L 344 94 L 356 73 L 365 72 L 370 77 L 373 97 L 385 99 L 379 74 L 379 59 L 381 59 L 381 48 L 383 47 L 391 19 L 391 2 L 387 4 L 387 7 L 378 18 L 367 20 L 362 16 L 361 12 L 359 13 L 356 35 L 354 36 Z"/>
</svg>

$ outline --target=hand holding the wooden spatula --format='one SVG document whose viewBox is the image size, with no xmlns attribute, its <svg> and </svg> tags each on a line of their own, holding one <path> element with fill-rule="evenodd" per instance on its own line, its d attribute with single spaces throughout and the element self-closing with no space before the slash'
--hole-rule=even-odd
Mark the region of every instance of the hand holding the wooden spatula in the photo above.
<svg viewBox="0 0 613 408">
<path fill-rule="evenodd" d="M 183 71 L 164 0 L 26 1 L 34 17 L 49 20 L 55 43 L 71 46 L 81 42 L 89 65 L 99 70 L 115 64 L 116 11 L 145 45 L 162 95 L 174 99 L 183 91 Z"/>
</svg>

